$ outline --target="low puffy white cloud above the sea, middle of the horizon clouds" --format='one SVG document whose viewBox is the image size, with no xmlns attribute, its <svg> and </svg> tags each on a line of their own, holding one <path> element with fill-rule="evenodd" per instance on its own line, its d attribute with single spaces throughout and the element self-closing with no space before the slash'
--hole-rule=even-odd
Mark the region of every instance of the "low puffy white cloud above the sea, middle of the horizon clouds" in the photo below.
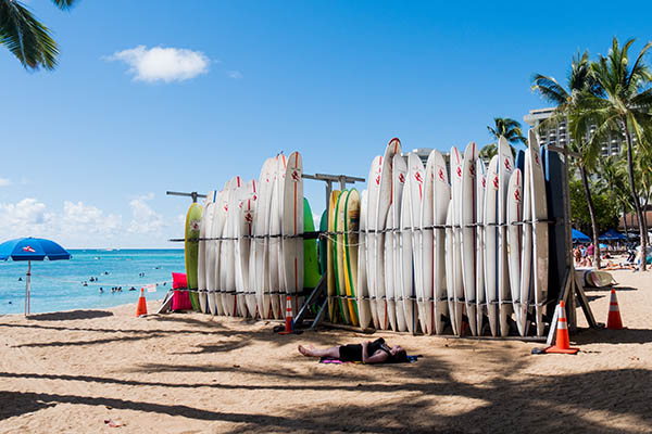
<svg viewBox="0 0 652 434">
<path fill-rule="evenodd" d="M 113 235 L 122 227 L 122 216 L 105 215 L 100 208 L 83 202 L 63 202 L 61 229 L 63 232 Z"/>
</svg>

